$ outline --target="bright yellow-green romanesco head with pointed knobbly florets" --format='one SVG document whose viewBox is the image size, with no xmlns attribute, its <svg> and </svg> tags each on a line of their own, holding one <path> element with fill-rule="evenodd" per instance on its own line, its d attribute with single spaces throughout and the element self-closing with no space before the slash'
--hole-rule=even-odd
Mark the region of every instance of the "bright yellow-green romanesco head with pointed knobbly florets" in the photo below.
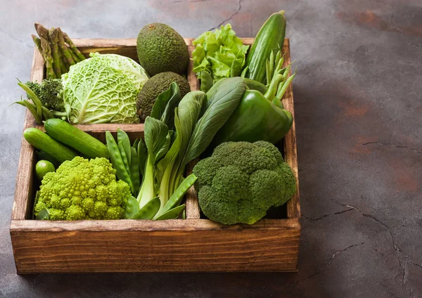
<svg viewBox="0 0 422 298">
<path fill-rule="evenodd" d="M 103 157 L 63 162 L 42 179 L 34 215 L 45 207 L 51 220 L 122 219 L 131 193 L 115 172 Z"/>
</svg>

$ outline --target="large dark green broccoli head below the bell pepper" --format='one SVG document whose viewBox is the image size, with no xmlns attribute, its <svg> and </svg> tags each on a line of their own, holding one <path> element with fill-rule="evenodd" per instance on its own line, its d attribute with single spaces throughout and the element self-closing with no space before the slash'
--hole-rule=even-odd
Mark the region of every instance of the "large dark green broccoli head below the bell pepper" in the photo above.
<svg viewBox="0 0 422 298">
<path fill-rule="evenodd" d="M 296 191 L 295 176 L 271 143 L 227 142 L 193 168 L 203 213 L 222 224 L 254 224 Z"/>
</svg>

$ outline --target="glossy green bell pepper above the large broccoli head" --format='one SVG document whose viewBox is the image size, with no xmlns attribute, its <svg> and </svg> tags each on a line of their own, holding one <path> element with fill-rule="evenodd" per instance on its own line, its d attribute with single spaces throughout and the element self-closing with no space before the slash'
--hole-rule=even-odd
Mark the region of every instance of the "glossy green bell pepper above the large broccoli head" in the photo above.
<svg viewBox="0 0 422 298">
<path fill-rule="evenodd" d="M 227 141 L 277 143 L 292 127 L 293 117 L 281 101 L 270 101 L 260 91 L 246 90 L 236 110 L 217 132 L 213 145 Z"/>
</svg>

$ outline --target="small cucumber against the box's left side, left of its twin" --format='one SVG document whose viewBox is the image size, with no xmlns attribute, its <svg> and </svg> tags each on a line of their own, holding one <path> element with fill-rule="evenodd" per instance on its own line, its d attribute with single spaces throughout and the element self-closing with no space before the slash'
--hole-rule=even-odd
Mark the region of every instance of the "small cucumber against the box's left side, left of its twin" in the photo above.
<svg viewBox="0 0 422 298">
<path fill-rule="evenodd" d="M 25 131 L 23 131 L 23 137 L 35 148 L 48 153 L 60 163 L 65 162 L 66 160 L 73 160 L 73 158 L 77 156 L 75 150 L 59 143 L 48 134 L 44 134 L 44 132 L 34 127 L 25 129 Z"/>
</svg>

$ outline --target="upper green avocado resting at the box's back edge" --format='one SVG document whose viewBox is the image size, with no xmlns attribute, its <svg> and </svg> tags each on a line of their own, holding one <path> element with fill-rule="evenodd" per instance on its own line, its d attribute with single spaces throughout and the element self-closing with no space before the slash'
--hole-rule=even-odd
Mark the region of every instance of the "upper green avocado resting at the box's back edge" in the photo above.
<svg viewBox="0 0 422 298">
<path fill-rule="evenodd" d="M 154 22 L 141 29 L 136 41 L 139 63 L 153 77 L 160 72 L 185 74 L 188 46 L 172 27 Z"/>
</svg>

